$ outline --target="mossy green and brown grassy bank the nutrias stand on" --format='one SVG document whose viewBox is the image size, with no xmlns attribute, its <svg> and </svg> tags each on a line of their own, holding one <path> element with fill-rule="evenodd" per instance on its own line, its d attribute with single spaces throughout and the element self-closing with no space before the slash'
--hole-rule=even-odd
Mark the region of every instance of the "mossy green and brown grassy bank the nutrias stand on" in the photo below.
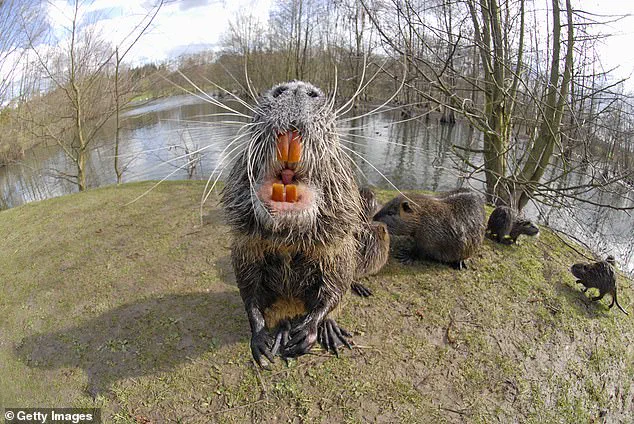
<svg viewBox="0 0 634 424">
<path fill-rule="evenodd" d="M 0 407 L 106 422 L 630 422 L 632 320 L 591 303 L 552 232 L 470 269 L 390 262 L 338 321 L 356 348 L 254 367 L 215 200 L 197 182 L 0 212 Z M 383 200 L 392 193 L 381 192 Z M 629 309 L 629 284 L 619 299 Z"/>
</svg>

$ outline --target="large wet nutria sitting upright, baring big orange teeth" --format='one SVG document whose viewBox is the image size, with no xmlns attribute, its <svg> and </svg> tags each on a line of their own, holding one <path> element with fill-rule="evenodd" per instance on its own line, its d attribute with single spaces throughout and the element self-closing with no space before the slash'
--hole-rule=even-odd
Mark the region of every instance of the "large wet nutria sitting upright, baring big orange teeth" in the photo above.
<svg viewBox="0 0 634 424">
<path fill-rule="evenodd" d="M 329 314 L 357 276 L 359 240 L 371 243 L 374 231 L 354 165 L 332 103 L 313 85 L 277 85 L 254 111 L 222 193 L 253 357 L 264 366 L 316 341 L 337 353 L 350 335 Z"/>
</svg>

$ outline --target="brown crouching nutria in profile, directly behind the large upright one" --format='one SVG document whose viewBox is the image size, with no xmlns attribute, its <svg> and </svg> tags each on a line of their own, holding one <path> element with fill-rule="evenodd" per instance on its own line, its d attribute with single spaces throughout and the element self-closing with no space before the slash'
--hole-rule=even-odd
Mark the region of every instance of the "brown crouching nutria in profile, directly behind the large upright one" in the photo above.
<svg viewBox="0 0 634 424">
<path fill-rule="evenodd" d="M 397 259 L 431 259 L 456 269 L 466 268 L 464 261 L 482 245 L 485 218 L 484 200 L 466 189 L 401 195 L 374 216 L 387 225 Z"/>
</svg>

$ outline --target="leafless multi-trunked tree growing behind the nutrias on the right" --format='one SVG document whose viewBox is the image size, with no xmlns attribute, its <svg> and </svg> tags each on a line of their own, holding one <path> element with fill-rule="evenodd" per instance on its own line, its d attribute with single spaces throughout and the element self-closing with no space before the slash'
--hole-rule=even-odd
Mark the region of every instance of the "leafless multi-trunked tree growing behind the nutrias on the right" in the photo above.
<svg viewBox="0 0 634 424">
<path fill-rule="evenodd" d="M 484 157 L 483 171 L 489 200 L 522 208 L 535 194 L 544 171 L 551 162 L 554 147 L 561 137 L 561 123 L 568 101 L 574 57 L 575 25 L 570 1 L 565 1 L 562 11 L 559 0 L 552 0 L 549 77 L 529 97 L 538 110 L 538 131 L 527 146 L 524 146 L 523 154 L 518 156 L 519 161 L 511 164 L 509 152 L 517 147 L 513 143 L 513 131 L 518 118 L 516 108 L 520 91 L 525 96 L 530 95 L 527 91 L 530 82 L 525 78 L 528 66 L 524 59 L 527 34 L 525 0 L 504 3 L 498 0 L 458 2 L 453 6 L 456 20 L 461 22 L 456 34 L 455 25 L 446 18 L 449 9 L 445 1 L 439 5 L 413 0 L 392 0 L 391 3 L 392 7 L 388 11 L 371 9 L 366 2 L 364 5 L 373 24 L 382 34 L 384 44 L 391 51 L 405 56 L 411 63 L 413 76 L 410 77 L 409 88 L 419 92 L 428 101 L 460 113 L 482 131 L 484 146 L 481 153 Z M 438 49 L 434 49 L 434 38 L 422 31 L 424 28 L 430 29 L 430 32 L 440 31 L 439 26 L 431 26 L 427 22 L 429 7 L 441 7 L 440 16 L 445 20 L 444 31 L 441 33 L 446 36 L 449 50 L 440 64 L 435 61 L 437 54 L 434 51 Z M 393 11 L 396 17 L 389 19 L 387 16 L 394 13 Z M 562 14 L 564 24 L 561 23 Z M 461 16 L 468 16 L 470 29 L 464 27 L 465 21 Z M 398 22 L 398 25 L 393 22 Z M 562 28 L 565 29 L 563 38 Z M 404 31 L 408 33 L 403 34 Z M 468 31 L 472 34 L 469 43 L 475 46 L 480 63 L 479 72 L 472 75 L 458 72 L 453 60 L 455 54 L 461 51 L 465 52 L 462 55 L 464 58 L 469 57 L 466 54 L 468 44 L 460 46 L 458 43 L 462 34 Z M 461 85 L 469 88 L 469 91 L 477 90 L 482 93 L 482 104 L 474 103 L 473 95 L 471 98 L 460 95 L 456 87 L 456 76 L 460 77 Z M 425 92 L 422 88 L 424 84 L 429 84 L 432 91 Z M 480 167 L 476 167 L 476 171 L 479 169 Z"/>
</svg>

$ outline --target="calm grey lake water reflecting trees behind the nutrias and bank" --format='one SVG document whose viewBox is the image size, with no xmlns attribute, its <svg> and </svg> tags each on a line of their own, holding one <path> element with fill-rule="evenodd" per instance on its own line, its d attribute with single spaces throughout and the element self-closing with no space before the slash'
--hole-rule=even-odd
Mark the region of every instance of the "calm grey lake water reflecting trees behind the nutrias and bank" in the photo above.
<svg viewBox="0 0 634 424">
<path fill-rule="evenodd" d="M 240 126 L 232 122 L 235 121 L 232 117 L 212 116 L 219 112 L 222 111 L 193 96 L 160 99 L 128 111 L 120 133 L 121 163 L 126 167 L 124 182 L 207 179 L 220 161 L 226 163 L 232 157 L 231 148 L 223 150 Z M 358 117 L 349 113 L 341 119 L 339 132 L 343 145 L 350 149 L 348 153 L 357 165 L 362 183 L 392 188 L 378 169 L 399 189 L 444 191 L 460 186 L 482 189 L 476 179 L 465 180 L 469 169 L 451 148 L 452 145 L 481 148 L 481 135 L 466 124 L 448 127 L 438 125 L 435 119 L 404 120 L 400 112 L 387 110 Z M 476 154 L 469 159 L 476 165 L 482 162 Z M 114 134 L 106 129 L 90 153 L 90 187 L 116 182 L 113 162 Z M 72 162 L 57 146 L 38 147 L 28 152 L 22 162 L 0 168 L 0 209 L 75 192 L 76 186 L 60 178 L 58 171 L 74 173 Z M 551 170 L 550 176 L 557 172 Z M 549 175 L 544 179 L 548 178 Z M 562 183 L 575 185 L 583 178 L 587 177 L 571 173 Z M 586 198 L 617 207 L 631 206 L 632 202 L 624 199 L 627 190 L 622 187 L 616 193 L 590 193 Z M 602 256 L 614 255 L 623 270 L 634 271 L 631 213 L 579 202 L 567 208 L 532 204 L 525 213 L 571 235 Z"/>
</svg>

